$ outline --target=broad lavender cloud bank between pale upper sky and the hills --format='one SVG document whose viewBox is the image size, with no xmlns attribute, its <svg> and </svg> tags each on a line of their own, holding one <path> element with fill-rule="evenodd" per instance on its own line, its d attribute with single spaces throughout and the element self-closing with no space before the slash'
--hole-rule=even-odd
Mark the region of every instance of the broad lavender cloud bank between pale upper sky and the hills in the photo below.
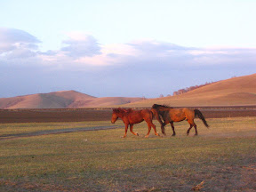
<svg viewBox="0 0 256 192">
<path fill-rule="evenodd" d="M 150 39 L 99 44 L 84 33 L 68 34 L 60 50 L 41 52 L 38 44 L 26 31 L 0 28 L 2 97 L 68 89 L 101 97 L 158 97 L 256 71 L 256 49 L 185 47 Z"/>
</svg>

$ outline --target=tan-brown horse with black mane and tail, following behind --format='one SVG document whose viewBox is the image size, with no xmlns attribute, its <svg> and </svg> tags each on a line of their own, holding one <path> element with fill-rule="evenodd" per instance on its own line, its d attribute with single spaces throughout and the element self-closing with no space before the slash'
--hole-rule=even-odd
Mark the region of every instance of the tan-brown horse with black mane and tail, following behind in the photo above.
<svg viewBox="0 0 256 192">
<path fill-rule="evenodd" d="M 154 104 L 151 108 L 151 111 L 156 116 L 157 121 L 161 124 L 161 129 L 164 135 L 165 135 L 164 126 L 170 123 L 172 126 L 172 132 L 173 132 L 172 136 L 175 136 L 176 132 L 174 130 L 173 122 L 180 122 L 183 120 L 187 120 L 188 124 L 190 124 L 190 127 L 188 128 L 188 131 L 187 131 L 187 135 L 189 134 L 193 126 L 196 131 L 195 135 L 197 135 L 198 132 L 196 129 L 196 124 L 194 122 L 194 119 L 196 116 L 198 116 L 204 122 L 204 125 L 206 127 L 209 127 L 209 125 L 204 119 L 203 114 L 198 109 L 192 110 L 190 108 L 171 108 L 165 105 Z M 162 122 L 160 116 L 162 117 L 164 123 Z"/>
</svg>

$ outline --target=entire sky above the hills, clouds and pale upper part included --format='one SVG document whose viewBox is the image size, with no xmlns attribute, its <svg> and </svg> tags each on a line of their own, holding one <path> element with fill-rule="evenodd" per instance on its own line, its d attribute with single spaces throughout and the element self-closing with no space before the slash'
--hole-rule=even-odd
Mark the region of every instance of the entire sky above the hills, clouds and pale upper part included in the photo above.
<svg viewBox="0 0 256 192">
<path fill-rule="evenodd" d="M 0 98 L 157 98 L 256 73 L 255 10 L 255 0 L 0 0 Z"/>
</svg>

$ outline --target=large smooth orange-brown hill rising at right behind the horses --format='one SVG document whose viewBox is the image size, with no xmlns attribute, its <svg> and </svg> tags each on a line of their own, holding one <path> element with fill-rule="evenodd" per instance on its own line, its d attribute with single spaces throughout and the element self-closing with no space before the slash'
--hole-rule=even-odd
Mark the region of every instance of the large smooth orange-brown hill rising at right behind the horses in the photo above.
<svg viewBox="0 0 256 192">
<path fill-rule="evenodd" d="M 150 107 L 154 103 L 173 107 L 256 105 L 256 74 L 208 84 L 177 96 L 141 100 L 124 107 Z"/>
</svg>

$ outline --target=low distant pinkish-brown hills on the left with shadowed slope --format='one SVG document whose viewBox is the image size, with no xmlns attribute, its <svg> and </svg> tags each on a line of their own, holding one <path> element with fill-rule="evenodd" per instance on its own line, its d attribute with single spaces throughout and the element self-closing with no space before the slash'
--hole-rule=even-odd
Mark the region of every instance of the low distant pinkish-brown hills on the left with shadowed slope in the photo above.
<svg viewBox="0 0 256 192">
<path fill-rule="evenodd" d="M 143 98 L 96 98 L 81 92 L 63 91 L 0 98 L 0 108 L 97 108 L 139 100 Z"/>
</svg>

